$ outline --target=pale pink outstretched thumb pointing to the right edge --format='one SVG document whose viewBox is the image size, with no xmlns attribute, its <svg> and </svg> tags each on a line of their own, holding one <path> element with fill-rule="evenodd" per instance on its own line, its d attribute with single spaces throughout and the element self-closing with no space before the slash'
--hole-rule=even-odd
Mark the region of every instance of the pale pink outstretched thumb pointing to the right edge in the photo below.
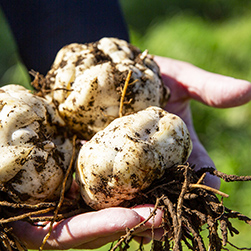
<svg viewBox="0 0 251 251">
<path fill-rule="evenodd" d="M 178 60 L 157 56 L 155 60 L 163 77 L 175 80 L 182 95 L 187 98 L 219 108 L 239 106 L 251 100 L 251 84 L 248 81 L 210 73 Z M 172 87 L 170 89 L 172 95 Z"/>
</svg>

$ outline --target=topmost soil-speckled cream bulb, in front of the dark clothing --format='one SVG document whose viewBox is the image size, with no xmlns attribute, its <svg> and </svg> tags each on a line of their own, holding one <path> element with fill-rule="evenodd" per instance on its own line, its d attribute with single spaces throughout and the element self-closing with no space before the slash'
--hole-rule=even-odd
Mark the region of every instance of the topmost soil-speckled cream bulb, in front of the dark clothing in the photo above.
<svg viewBox="0 0 251 251">
<path fill-rule="evenodd" d="M 164 107 L 169 90 L 153 58 L 117 38 L 63 47 L 46 75 L 47 98 L 58 104 L 69 128 L 90 139 L 119 117 L 121 93 L 130 71 L 123 114 Z"/>
</svg>

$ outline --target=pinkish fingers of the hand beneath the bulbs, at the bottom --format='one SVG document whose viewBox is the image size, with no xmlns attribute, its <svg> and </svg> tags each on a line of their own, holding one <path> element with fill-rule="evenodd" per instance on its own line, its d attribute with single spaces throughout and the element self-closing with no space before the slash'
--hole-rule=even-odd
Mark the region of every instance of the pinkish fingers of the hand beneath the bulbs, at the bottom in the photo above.
<svg viewBox="0 0 251 251">
<path fill-rule="evenodd" d="M 69 198 L 74 198 L 78 185 L 74 182 L 68 192 Z M 141 205 L 133 209 L 114 207 L 95 212 L 88 212 L 70 217 L 53 225 L 52 234 L 44 249 L 95 249 L 109 242 L 119 239 L 127 229 L 133 228 L 148 218 L 154 209 L 153 205 Z M 144 243 L 152 239 L 152 224 L 155 228 L 154 238 L 160 240 L 163 229 L 162 211 L 158 209 L 156 215 L 144 226 L 134 232 L 135 239 Z M 46 227 L 33 226 L 27 222 L 17 221 L 11 224 L 14 233 L 29 249 L 38 250 L 48 233 L 50 223 Z"/>
</svg>

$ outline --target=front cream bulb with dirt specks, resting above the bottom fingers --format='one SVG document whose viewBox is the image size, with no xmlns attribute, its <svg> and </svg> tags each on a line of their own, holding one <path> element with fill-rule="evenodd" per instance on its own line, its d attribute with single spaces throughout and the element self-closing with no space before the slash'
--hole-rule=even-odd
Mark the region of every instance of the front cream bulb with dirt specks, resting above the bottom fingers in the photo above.
<svg viewBox="0 0 251 251">
<path fill-rule="evenodd" d="M 80 149 L 81 195 L 94 209 L 118 206 L 187 161 L 192 142 L 185 123 L 158 107 L 117 118 Z"/>
</svg>

